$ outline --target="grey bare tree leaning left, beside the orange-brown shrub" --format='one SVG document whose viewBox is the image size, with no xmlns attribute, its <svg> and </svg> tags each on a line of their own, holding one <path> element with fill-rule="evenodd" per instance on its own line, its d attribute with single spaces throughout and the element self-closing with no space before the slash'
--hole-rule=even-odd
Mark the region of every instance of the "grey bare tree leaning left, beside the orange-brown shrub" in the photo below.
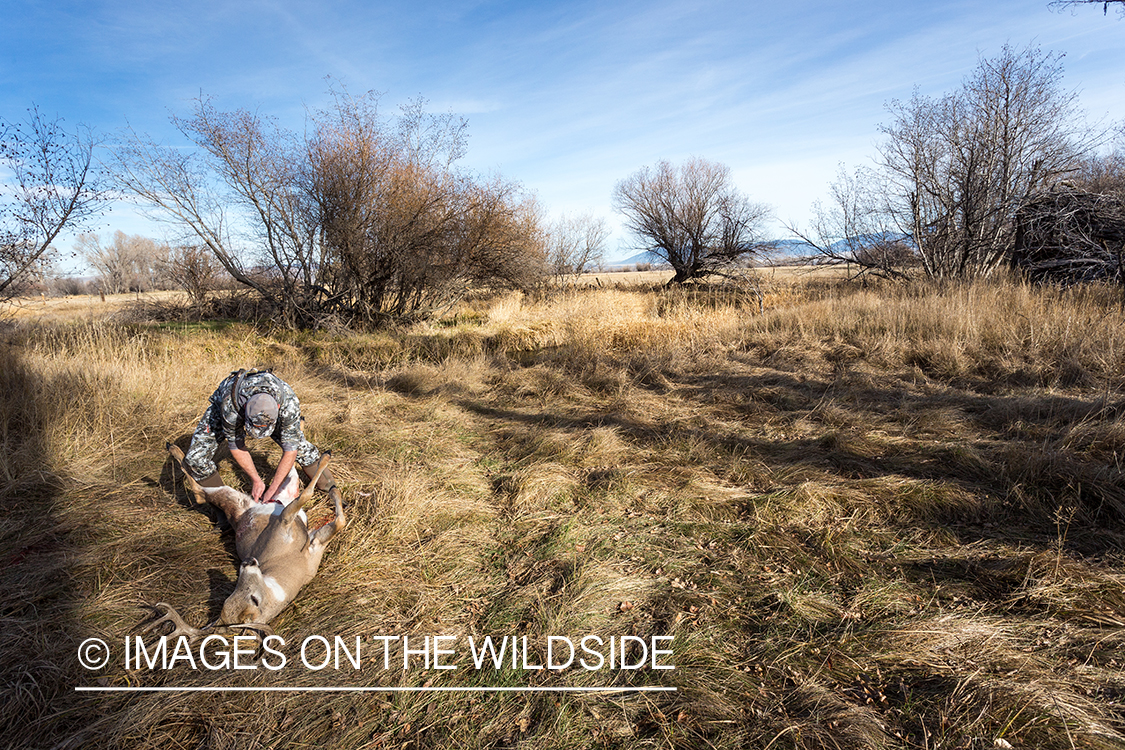
<svg viewBox="0 0 1125 750">
<path fill-rule="evenodd" d="M 282 317 L 315 315 L 318 227 L 300 190 L 299 139 L 255 112 L 223 112 L 207 99 L 172 123 L 197 150 L 161 146 L 132 130 L 114 152 L 119 183 L 205 245 L 240 283 Z M 264 272 L 263 272 L 264 271 Z"/>
</svg>

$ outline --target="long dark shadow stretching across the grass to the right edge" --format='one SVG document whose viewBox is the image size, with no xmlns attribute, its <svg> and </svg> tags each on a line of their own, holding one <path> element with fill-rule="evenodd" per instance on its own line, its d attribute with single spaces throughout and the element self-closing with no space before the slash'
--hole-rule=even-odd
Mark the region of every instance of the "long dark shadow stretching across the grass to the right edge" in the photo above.
<svg viewBox="0 0 1125 750">
<path fill-rule="evenodd" d="M 973 498 L 971 512 L 940 500 L 901 508 L 902 525 L 935 525 L 963 542 L 996 539 L 1047 549 L 1060 537 L 1056 512 L 1076 506 L 1081 533 L 1062 540 L 1080 554 L 1120 551 L 1125 542 L 1125 475 L 1058 445 L 1076 424 L 1113 419 L 1119 405 L 1105 398 L 1030 394 L 992 395 L 930 387 L 834 382 L 780 371 L 760 374 L 677 374 L 638 387 L 676 398 L 700 418 L 666 422 L 636 412 L 590 407 L 538 408 L 460 399 L 468 412 L 511 424 L 577 433 L 610 426 L 639 449 L 705 445 L 712 455 L 746 457 L 780 476 L 835 478 L 840 482 L 909 480 L 957 488 Z M 731 426 L 708 428 L 709 409 L 738 413 Z M 935 416 L 936 415 L 936 416 Z M 754 431 L 756 421 L 784 424 L 782 440 Z M 799 422 L 812 423 L 796 428 Z M 947 424 L 943 424 L 943 421 Z M 927 426 L 927 422 L 935 424 Z M 917 428 L 916 428 L 916 423 Z M 881 435 L 875 435 L 879 431 Z M 894 440 L 885 433 L 898 433 Z M 800 434 L 803 433 L 803 434 Z M 753 495 L 753 493 L 752 493 Z M 753 501 L 753 500 L 752 500 Z"/>
</svg>

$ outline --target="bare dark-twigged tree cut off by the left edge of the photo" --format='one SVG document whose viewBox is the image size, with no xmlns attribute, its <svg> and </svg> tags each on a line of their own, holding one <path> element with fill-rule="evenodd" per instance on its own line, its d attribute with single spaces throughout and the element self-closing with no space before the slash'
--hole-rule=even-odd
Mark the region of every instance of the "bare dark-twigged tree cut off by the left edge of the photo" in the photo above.
<svg viewBox="0 0 1125 750">
<path fill-rule="evenodd" d="M 66 130 L 33 107 L 25 121 L 0 120 L 0 299 L 50 264 L 63 228 L 89 223 L 106 201 L 88 128 Z"/>
</svg>

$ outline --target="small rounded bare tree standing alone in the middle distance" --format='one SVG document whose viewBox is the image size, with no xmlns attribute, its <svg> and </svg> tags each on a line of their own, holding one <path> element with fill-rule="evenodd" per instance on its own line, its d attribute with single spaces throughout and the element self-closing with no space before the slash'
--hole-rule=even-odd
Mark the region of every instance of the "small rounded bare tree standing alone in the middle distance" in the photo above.
<svg viewBox="0 0 1125 750">
<path fill-rule="evenodd" d="M 704 159 L 642 168 L 616 184 L 613 206 L 642 249 L 673 268 L 669 284 L 727 273 L 767 246 L 768 207 L 739 192 L 728 166 Z"/>
</svg>

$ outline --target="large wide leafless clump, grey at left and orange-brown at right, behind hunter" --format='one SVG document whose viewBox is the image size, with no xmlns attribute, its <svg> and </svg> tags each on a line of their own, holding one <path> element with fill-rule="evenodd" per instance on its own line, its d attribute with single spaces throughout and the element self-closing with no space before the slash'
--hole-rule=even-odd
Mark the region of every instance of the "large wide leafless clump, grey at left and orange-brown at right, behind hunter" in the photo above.
<svg viewBox="0 0 1125 750">
<path fill-rule="evenodd" d="M 532 200 L 453 169 L 465 123 L 422 101 L 388 119 L 374 94 L 338 91 L 300 136 L 204 99 L 173 123 L 198 153 L 130 133 L 118 179 L 292 325 L 426 317 L 469 283 L 542 271 Z"/>
</svg>

